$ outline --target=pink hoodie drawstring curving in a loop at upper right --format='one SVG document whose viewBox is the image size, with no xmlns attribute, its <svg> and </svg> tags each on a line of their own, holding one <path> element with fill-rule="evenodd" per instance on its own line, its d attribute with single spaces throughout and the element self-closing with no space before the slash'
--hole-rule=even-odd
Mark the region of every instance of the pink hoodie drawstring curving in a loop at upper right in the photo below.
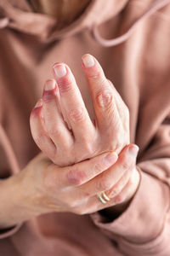
<svg viewBox="0 0 170 256">
<path fill-rule="evenodd" d="M 148 9 L 144 13 L 144 15 L 141 15 L 140 18 L 137 21 L 135 21 L 133 23 L 133 25 L 127 30 L 127 32 L 125 32 L 124 34 L 122 34 L 122 36 L 120 36 L 118 38 L 114 38 L 111 40 L 102 38 L 99 35 L 97 26 L 94 25 L 92 27 L 92 32 L 93 32 L 94 38 L 99 44 L 101 44 L 102 46 L 105 46 L 105 47 L 111 47 L 111 46 L 115 46 L 117 44 L 122 44 L 133 34 L 134 30 L 137 28 L 137 26 L 139 26 L 139 23 L 141 21 L 143 21 L 146 18 L 149 18 L 151 15 L 155 14 L 157 10 L 165 7 L 168 3 L 170 3 L 170 0 L 158 0 L 156 3 L 152 4 L 150 9 Z"/>
</svg>

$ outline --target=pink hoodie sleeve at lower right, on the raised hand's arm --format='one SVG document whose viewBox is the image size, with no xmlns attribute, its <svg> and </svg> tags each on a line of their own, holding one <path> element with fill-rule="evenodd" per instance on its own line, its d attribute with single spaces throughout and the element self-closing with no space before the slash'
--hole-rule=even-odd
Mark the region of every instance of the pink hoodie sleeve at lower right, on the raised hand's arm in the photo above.
<svg viewBox="0 0 170 256">
<path fill-rule="evenodd" d="M 170 117 L 137 161 L 140 183 L 125 212 L 108 220 L 90 214 L 94 224 L 127 256 L 170 255 Z"/>
</svg>

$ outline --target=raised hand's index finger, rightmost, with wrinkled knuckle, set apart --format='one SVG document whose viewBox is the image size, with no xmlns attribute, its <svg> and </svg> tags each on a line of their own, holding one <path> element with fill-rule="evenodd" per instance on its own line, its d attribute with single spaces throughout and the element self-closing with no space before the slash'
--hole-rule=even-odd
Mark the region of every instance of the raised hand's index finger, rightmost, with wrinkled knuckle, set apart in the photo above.
<svg viewBox="0 0 170 256">
<path fill-rule="evenodd" d="M 92 55 L 82 56 L 82 69 L 94 104 L 94 113 L 100 130 L 120 122 L 116 108 L 114 87 L 111 88 L 99 62 Z"/>
</svg>

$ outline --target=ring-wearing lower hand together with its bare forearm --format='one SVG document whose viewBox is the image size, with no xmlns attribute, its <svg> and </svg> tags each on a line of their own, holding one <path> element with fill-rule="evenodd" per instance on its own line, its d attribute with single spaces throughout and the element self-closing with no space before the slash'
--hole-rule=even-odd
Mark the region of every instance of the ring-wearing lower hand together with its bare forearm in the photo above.
<svg viewBox="0 0 170 256">
<path fill-rule="evenodd" d="M 136 189 L 131 179 L 137 174 L 133 172 L 136 155 L 136 146 L 129 144 L 118 160 L 116 153 L 105 153 L 60 167 L 44 154 L 38 154 L 22 172 L 1 183 L 0 201 L 4 204 L 0 204 L 0 227 L 48 212 L 97 212 L 124 201 Z M 97 199 L 102 191 L 111 194 L 107 204 Z"/>
</svg>

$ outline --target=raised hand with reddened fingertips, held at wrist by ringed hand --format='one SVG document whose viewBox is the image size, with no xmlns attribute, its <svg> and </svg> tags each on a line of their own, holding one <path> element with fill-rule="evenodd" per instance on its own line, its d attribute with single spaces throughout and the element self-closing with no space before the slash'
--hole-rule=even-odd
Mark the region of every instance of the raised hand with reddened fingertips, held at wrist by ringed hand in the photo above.
<svg viewBox="0 0 170 256">
<path fill-rule="evenodd" d="M 82 69 L 94 104 L 94 123 L 74 76 L 64 63 L 54 65 L 57 84 L 47 81 L 42 101 L 31 113 L 32 137 L 58 166 L 108 151 L 119 154 L 129 143 L 129 113 L 121 96 L 92 55 L 82 56 Z"/>
</svg>

